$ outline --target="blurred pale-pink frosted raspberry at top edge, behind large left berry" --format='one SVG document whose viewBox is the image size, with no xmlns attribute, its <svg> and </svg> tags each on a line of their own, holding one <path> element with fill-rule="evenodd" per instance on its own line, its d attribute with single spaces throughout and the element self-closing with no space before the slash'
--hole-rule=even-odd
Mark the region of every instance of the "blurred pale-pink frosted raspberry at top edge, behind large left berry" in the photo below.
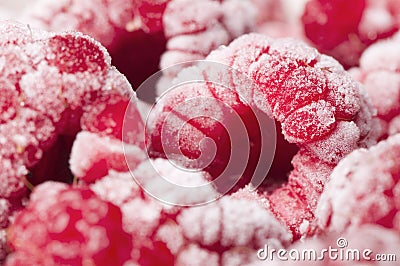
<svg viewBox="0 0 400 266">
<path fill-rule="evenodd" d="M 90 34 L 104 45 L 133 18 L 133 1 L 48 1 L 41 0 L 26 10 L 22 18 L 51 31 L 77 30 Z"/>
</svg>

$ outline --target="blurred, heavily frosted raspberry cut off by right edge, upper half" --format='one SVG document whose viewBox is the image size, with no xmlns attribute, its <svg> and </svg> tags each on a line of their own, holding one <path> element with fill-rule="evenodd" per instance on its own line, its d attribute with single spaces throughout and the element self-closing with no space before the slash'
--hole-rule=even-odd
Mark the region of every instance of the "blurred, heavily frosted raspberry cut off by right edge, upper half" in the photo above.
<svg viewBox="0 0 400 266">
<path fill-rule="evenodd" d="M 396 117 L 400 115 L 400 35 L 377 42 L 366 49 L 360 67 L 351 69 L 353 76 L 364 84 L 377 110 L 382 126 L 381 138 L 400 132 Z"/>
</svg>

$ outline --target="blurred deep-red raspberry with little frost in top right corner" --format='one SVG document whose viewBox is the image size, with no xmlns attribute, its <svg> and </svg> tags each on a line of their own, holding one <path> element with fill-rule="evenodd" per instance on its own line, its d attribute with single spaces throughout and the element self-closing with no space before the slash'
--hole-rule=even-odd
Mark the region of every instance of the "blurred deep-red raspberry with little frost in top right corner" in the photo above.
<svg viewBox="0 0 400 266">
<path fill-rule="evenodd" d="M 395 2 L 309 1 L 302 16 L 305 34 L 321 52 L 345 67 L 357 65 L 366 47 L 399 29 L 400 8 Z"/>
</svg>

